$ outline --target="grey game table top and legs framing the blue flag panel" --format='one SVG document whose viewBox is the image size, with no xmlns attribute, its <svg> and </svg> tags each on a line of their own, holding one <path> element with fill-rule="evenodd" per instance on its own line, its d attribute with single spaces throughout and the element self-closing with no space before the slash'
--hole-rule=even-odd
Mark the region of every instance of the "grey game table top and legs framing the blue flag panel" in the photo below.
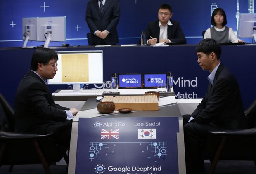
<svg viewBox="0 0 256 174">
<path fill-rule="evenodd" d="M 178 117 L 179 132 L 177 133 L 177 148 L 178 148 L 178 171 L 180 174 L 185 174 L 185 149 L 183 137 L 183 121 L 180 110 L 174 96 L 163 97 L 159 99 L 159 111 L 133 111 L 129 114 L 120 114 L 115 111 L 112 114 L 100 114 L 96 109 L 97 102 L 95 99 L 88 99 L 85 105 L 78 112 L 73 120 L 71 145 L 69 153 L 69 174 L 76 172 L 76 152 L 78 141 L 78 122 L 79 118 L 95 118 L 95 117 Z"/>
</svg>

